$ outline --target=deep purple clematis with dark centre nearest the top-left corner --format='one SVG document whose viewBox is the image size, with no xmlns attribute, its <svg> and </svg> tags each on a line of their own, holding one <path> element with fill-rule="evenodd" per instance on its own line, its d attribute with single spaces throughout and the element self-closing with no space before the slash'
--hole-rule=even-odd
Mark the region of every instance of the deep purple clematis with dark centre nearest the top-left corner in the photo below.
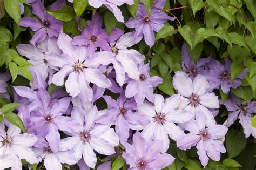
<svg viewBox="0 0 256 170">
<path fill-rule="evenodd" d="M 41 19 L 41 22 L 39 22 L 36 18 L 21 18 L 21 26 L 30 27 L 33 31 L 36 31 L 30 43 L 36 45 L 36 43 L 42 42 L 46 37 L 58 37 L 62 28 L 62 22 L 46 13 L 44 5 L 40 0 L 30 3 L 30 5 L 33 8 L 32 12 Z"/>
</svg>

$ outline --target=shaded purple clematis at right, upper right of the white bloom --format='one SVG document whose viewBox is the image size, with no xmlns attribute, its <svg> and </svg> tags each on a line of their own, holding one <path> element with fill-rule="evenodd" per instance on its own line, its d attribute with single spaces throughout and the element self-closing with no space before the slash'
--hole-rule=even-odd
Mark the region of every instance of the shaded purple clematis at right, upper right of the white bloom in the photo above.
<svg viewBox="0 0 256 170">
<path fill-rule="evenodd" d="M 245 73 L 248 70 L 244 70 L 244 72 L 238 76 L 239 79 L 235 79 L 232 83 L 230 79 L 231 62 L 228 58 L 225 58 L 224 61 L 225 64 L 222 65 L 219 61 L 211 59 L 210 63 L 208 64 L 210 69 L 207 75 L 208 80 L 210 80 L 209 91 L 219 89 L 219 87 L 221 87 L 221 90 L 224 93 L 228 93 L 231 87 L 236 89 L 242 84 L 239 79 L 244 79 Z"/>
</svg>

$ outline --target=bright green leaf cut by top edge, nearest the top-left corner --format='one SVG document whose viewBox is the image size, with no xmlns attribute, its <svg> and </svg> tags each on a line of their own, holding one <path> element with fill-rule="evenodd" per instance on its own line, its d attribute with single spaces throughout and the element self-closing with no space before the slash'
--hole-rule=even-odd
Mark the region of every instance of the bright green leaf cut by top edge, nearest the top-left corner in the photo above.
<svg viewBox="0 0 256 170">
<path fill-rule="evenodd" d="M 4 0 L 4 8 L 6 12 L 14 19 L 17 25 L 21 19 L 21 6 L 19 0 Z"/>
</svg>

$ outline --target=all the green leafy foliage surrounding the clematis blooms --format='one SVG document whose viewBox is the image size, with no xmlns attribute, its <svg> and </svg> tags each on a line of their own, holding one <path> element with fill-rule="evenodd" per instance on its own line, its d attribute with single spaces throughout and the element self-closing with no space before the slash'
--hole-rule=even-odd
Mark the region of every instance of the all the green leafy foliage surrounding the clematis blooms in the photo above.
<svg viewBox="0 0 256 170">
<path fill-rule="evenodd" d="M 19 26 L 20 2 L 24 4 L 24 16 L 32 17 L 31 8 L 25 0 L 0 0 L 0 72 L 11 72 L 12 79 L 8 81 L 8 92 L 11 96 L 12 85 L 29 86 L 29 81 L 32 80 L 31 73 L 26 70 L 30 63 L 26 61 L 26 58 L 19 56 L 16 51 L 18 44 L 28 44 L 33 35 L 30 29 Z M 49 5 L 53 3 L 53 1 L 46 0 L 42 2 L 48 10 Z M 143 0 L 143 2 L 149 8 L 150 1 Z M 135 0 L 134 5 L 120 7 L 125 21 L 135 15 L 138 3 L 138 0 Z M 80 33 L 74 18 L 82 17 L 80 26 L 85 28 L 86 20 L 91 19 L 92 14 L 96 12 L 96 9 L 87 6 L 87 4 L 87 0 L 75 0 L 73 4 L 67 3 L 67 6 L 61 10 L 48 11 L 48 13 L 63 21 L 63 32 L 74 37 Z M 125 32 L 132 31 L 132 29 L 125 28 L 123 23 L 118 22 L 104 6 L 97 11 L 103 17 L 104 27 L 108 33 L 115 27 Z M 221 62 L 224 58 L 230 57 L 232 60 L 232 80 L 245 68 L 248 68 L 250 72 L 246 74 L 242 86 L 231 91 L 244 101 L 255 100 L 256 1 L 167 0 L 163 11 L 169 13 L 170 16 L 177 17 L 176 21 L 166 22 L 164 28 L 156 33 L 156 43 L 151 49 L 144 40 L 132 47 L 143 53 L 146 60 L 150 60 L 151 76 L 157 75 L 164 79 L 164 83 L 155 89 L 155 93 L 163 94 L 165 97 L 174 94 L 172 76 L 174 71 L 182 71 L 181 45 L 185 40 L 195 63 L 199 58 L 208 56 Z M 53 92 L 56 89 L 56 86 L 51 85 L 49 91 Z M 223 101 L 228 97 L 228 94 L 224 94 L 222 91 L 216 90 L 214 92 Z M 0 107 L 8 103 L 12 103 L 12 100 L 0 98 Z M 99 109 L 106 108 L 102 100 L 98 101 L 97 106 Z M 218 124 L 223 124 L 227 115 L 228 111 L 222 106 L 215 120 Z M 255 116 L 252 125 L 256 126 Z M 176 148 L 175 142 L 171 142 L 170 145 L 167 153 L 172 154 L 177 159 L 172 165 L 166 167 L 166 170 L 202 169 L 195 148 L 190 151 L 180 151 Z M 221 155 L 221 160 L 219 162 L 211 160 L 205 169 L 255 169 L 256 140 L 253 137 L 245 138 L 238 121 L 229 128 L 225 138 L 225 146 L 227 153 Z M 114 158 L 112 160 L 112 167 L 118 164 L 117 167 L 121 165 L 121 169 L 125 169 L 124 162 L 119 159 Z M 121 164 L 119 164 L 120 162 Z"/>
</svg>

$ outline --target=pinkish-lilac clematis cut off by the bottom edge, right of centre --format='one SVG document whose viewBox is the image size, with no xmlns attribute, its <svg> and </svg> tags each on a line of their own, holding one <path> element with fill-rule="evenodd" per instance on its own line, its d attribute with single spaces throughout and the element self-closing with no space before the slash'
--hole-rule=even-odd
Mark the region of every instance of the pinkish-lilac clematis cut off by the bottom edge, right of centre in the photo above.
<svg viewBox="0 0 256 170">
<path fill-rule="evenodd" d="M 170 154 L 160 153 L 161 140 L 147 143 L 138 131 L 133 135 L 132 140 L 132 145 L 123 144 L 125 153 L 122 154 L 130 169 L 163 169 L 175 159 Z"/>
</svg>

